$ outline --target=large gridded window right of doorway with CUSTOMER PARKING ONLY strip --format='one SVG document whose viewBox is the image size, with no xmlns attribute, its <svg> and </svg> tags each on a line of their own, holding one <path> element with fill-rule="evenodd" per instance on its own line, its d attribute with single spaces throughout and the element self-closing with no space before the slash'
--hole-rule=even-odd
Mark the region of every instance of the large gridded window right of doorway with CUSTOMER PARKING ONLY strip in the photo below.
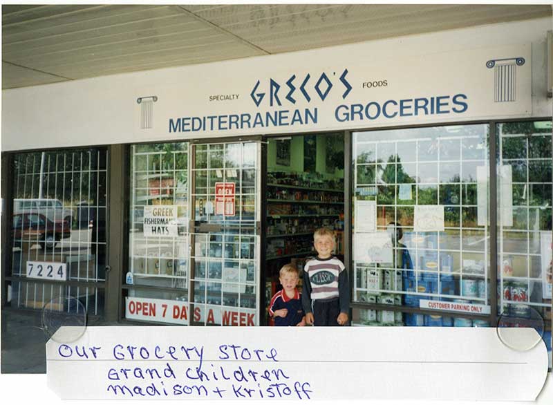
<svg viewBox="0 0 553 405">
<path fill-rule="evenodd" d="M 488 137 L 487 124 L 353 133 L 353 301 L 489 314 Z M 384 324 L 369 315 L 357 322 Z"/>
</svg>

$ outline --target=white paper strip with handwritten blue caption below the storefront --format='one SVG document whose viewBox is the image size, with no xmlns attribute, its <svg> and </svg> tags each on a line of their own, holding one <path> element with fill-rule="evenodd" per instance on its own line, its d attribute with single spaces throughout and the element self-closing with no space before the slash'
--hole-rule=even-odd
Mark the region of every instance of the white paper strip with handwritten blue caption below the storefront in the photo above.
<svg viewBox="0 0 553 405">
<path fill-rule="evenodd" d="M 67 328 L 46 343 L 63 399 L 532 401 L 547 376 L 543 341 L 518 352 L 493 328 L 96 326 L 59 343 Z"/>
</svg>

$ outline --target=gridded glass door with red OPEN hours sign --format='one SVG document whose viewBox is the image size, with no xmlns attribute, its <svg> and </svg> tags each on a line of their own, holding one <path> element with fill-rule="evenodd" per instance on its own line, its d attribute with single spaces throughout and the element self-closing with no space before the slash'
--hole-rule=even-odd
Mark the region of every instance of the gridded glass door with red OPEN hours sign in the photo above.
<svg viewBox="0 0 553 405">
<path fill-rule="evenodd" d="M 259 325 L 261 144 L 191 147 L 192 325 Z"/>
</svg>

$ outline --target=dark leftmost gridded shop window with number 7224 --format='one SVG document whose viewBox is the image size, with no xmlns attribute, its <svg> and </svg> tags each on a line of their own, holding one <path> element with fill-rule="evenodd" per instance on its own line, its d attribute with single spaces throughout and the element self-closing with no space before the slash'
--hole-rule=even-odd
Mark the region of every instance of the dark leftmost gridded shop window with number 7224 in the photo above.
<svg viewBox="0 0 553 405">
<path fill-rule="evenodd" d="M 106 148 L 15 155 L 13 308 L 103 314 L 104 289 L 95 283 L 105 281 L 107 162 Z"/>
</svg>

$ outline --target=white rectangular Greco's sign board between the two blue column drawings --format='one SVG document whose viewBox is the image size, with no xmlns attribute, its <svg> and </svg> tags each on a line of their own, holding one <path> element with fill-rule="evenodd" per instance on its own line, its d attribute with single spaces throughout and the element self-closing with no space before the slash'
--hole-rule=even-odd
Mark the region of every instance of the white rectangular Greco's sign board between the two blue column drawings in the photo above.
<svg viewBox="0 0 553 405">
<path fill-rule="evenodd" d="M 399 56 L 393 62 L 351 57 L 324 66 L 267 64 L 268 59 L 259 59 L 237 62 L 243 68 L 234 71 L 232 80 L 227 75 L 214 75 L 209 81 L 198 77 L 201 86 L 181 80 L 140 93 L 158 95 L 154 129 L 169 136 L 525 116 L 532 113 L 530 60 L 530 48 L 524 45 Z M 507 82 L 496 79 L 499 64 L 508 64 L 513 73 Z M 252 70 L 262 73 L 252 77 Z M 234 97 L 214 102 L 208 97 L 212 94 Z M 140 129 L 140 106 L 135 110 L 136 131 L 149 131 Z"/>
</svg>

